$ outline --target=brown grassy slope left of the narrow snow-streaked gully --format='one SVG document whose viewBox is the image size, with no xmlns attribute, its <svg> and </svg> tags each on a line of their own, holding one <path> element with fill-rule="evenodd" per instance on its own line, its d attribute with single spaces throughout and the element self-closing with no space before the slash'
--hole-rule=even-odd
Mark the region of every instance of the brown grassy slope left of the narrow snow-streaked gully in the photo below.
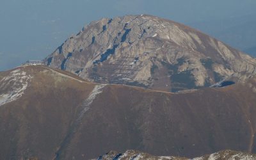
<svg viewBox="0 0 256 160">
<path fill-rule="evenodd" d="M 22 70 L 33 79 L 20 99 L 0 107 L 0 159 L 52 159 L 94 85 L 47 68 Z"/>
</svg>

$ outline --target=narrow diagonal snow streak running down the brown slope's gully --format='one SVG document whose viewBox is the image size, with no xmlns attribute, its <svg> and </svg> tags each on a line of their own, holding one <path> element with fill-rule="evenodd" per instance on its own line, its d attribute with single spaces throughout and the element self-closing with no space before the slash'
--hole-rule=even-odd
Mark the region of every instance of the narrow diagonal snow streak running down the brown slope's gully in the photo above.
<svg viewBox="0 0 256 160">
<path fill-rule="evenodd" d="M 99 95 L 100 93 L 102 93 L 103 88 L 106 86 L 107 84 L 100 84 L 100 85 L 96 85 L 92 92 L 90 93 L 89 97 L 84 100 L 83 102 L 83 111 L 81 111 L 81 113 L 79 114 L 77 120 L 81 120 L 81 118 L 83 118 L 84 113 L 86 113 L 86 111 L 88 111 L 90 109 L 90 105 L 92 104 L 93 100 L 97 97 L 97 95 Z"/>
</svg>

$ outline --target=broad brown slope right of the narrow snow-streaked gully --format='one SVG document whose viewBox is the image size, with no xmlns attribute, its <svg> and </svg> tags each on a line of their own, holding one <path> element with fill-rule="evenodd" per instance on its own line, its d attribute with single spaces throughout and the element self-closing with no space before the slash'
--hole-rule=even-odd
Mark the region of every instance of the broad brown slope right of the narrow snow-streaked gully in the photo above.
<svg viewBox="0 0 256 160">
<path fill-rule="evenodd" d="M 66 159 L 132 148 L 187 157 L 250 151 L 255 102 L 255 93 L 242 84 L 180 94 L 108 86 L 84 116 L 71 142 L 76 147 L 65 150 Z"/>
</svg>

